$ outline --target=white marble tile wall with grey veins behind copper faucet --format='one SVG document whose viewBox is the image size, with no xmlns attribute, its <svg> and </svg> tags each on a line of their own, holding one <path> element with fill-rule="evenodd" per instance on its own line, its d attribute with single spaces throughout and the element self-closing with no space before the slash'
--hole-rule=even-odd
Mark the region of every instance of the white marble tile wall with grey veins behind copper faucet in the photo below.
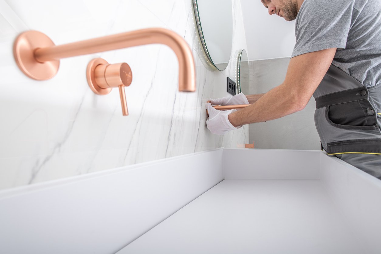
<svg viewBox="0 0 381 254">
<path fill-rule="evenodd" d="M 189 0 L 0 0 L 0 189 L 70 177 L 216 147 L 242 147 L 248 127 L 224 136 L 205 125 L 205 102 L 228 96 L 234 54 L 246 48 L 240 0 L 234 8 L 232 58 L 223 72 L 203 65 Z M 62 59 L 48 81 L 26 77 L 12 46 L 24 30 L 38 30 L 56 45 L 109 34 L 165 27 L 191 46 L 195 93 L 178 92 L 178 62 L 164 45 Z M 130 115 L 118 91 L 94 94 L 85 70 L 93 58 L 127 62 L 133 82 L 125 88 Z"/>
</svg>

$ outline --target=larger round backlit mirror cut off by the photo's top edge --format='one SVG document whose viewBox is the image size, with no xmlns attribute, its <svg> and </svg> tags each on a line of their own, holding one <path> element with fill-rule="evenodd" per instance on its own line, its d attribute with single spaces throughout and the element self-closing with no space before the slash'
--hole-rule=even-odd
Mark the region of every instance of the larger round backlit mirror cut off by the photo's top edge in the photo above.
<svg viewBox="0 0 381 254">
<path fill-rule="evenodd" d="M 233 43 L 231 0 L 193 0 L 193 9 L 202 45 L 209 61 L 224 70 L 229 63 Z"/>
</svg>

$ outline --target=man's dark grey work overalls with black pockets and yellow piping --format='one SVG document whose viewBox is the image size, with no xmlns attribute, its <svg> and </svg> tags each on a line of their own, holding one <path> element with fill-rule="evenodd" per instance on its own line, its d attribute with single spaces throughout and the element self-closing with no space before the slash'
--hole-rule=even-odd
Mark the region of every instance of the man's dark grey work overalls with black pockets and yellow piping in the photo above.
<svg viewBox="0 0 381 254">
<path fill-rule="evenodd" d="M 331 64 L 314 98 L 327 155 L 381 179 L 381 84 L 367 88 Z"/>
</svg>

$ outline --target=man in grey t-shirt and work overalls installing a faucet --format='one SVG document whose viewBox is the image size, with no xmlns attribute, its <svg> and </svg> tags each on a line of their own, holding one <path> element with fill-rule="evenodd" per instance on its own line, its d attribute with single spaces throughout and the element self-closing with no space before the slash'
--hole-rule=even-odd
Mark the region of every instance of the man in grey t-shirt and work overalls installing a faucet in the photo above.
<svg viewBox="0 0 381 254">
<path fill-rule="evenodd" d="M 270 15 L 296 19 L 285 80 L 240 111 L 207 104 L 208 128 L 224 134 L 280 118 L 304 109 L 314 95 L 323 149 L 381 179 L 381 0 L 261 1 Z M 211 102 L 244 104 L 247 98 Z"/>
</svg>

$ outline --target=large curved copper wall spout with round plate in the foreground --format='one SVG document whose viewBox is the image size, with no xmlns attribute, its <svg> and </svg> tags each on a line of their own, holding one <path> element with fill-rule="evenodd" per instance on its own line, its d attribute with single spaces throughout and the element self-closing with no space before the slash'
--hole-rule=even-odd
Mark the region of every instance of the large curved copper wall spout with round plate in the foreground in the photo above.
<svg viewBox="0 0 381 254">
<path fill-rule="evenodd" d="M 58 70 L 58 60 L 61 58 L 153 43 L 165 44 L 174 51 L 179 62 L 179 91 L 194 92 L 196 86 L 192 51 L 181 36 L 163 28 L 141 29 L 59 46 L 54 46 L 53 42 L 40 32 L 27 31 L 16 39 L 14 57 L 28 77 L 43 80 L 54 76 Z M 45 64 L 46 62 L 49 64 Z M 42 63 L 45 65 L 42 66 Z M 53 72 L 50 69 L 53 69 Z"/>
</svg>

